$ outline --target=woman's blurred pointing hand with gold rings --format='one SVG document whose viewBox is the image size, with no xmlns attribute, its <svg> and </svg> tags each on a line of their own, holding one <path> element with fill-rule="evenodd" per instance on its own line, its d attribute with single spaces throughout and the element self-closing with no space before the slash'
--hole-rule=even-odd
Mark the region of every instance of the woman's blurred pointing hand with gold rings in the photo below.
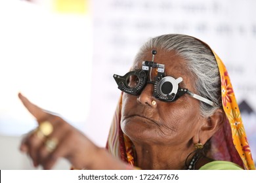
<svg viewBox="0 0 256 183">
<path fill-rule="evenodd" d="M 59 116 L 37 107 L 20 93 L 18 97 L 39 124 L 24 137 L 20 146 L 20 150 L 32 158 L 35 167 L 42 165 L 44 169 L 51 169 L 56 160 L 63 157 L 77 169 L 93 168 L 97 154 L 102 154 L 101 148 Z"/>
</svg>

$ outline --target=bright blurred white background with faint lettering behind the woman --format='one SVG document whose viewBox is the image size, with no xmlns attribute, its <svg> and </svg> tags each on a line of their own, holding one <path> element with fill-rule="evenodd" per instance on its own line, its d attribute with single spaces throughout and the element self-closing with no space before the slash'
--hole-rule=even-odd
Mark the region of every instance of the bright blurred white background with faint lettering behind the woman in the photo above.
<svg viewBox="0 0 256 183">
<path fill-rule="evenodd" d="M 256 1 L 1 0 L 0 169 L 34 169 L 18 148 L 37 123 L 18 100 L 57 112 L 105 146 L 139 46 L 165 33 L 192 35 L 223 59 L 256 160 Z M 60 159 L 54 169 L 69 169 Z"/>
</svg>

